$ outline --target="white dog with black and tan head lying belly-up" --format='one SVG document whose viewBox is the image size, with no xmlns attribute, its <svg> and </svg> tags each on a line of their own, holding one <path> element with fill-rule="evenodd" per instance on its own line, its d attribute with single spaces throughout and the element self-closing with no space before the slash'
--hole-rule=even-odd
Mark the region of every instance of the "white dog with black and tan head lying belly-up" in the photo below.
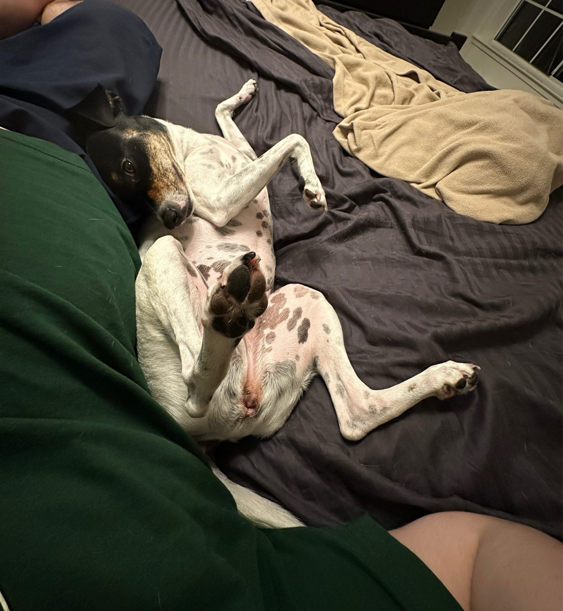
<svg viewBox="0 0 563 611">
<path fill-rule="evenodd" d="M 327 204 L 302 136 L 256 158 L 233 122 L 256 89 L 252 79 L 217 106 L 224 138 L 126 117 L 104 90 L 74 109 L 96 121 L 84 144 L 107 185 L 155 213 L 142 230 L 136 281 L 137 349 L 153 397 L 199 441 L 267 437 L 319 373 L 341 433 L 358 440 L 424 398 L 473 390 L 478 367 L 453 361 L 372 390 L 322 293 L 297 284 L 271 293 L 267 183 L 291 159 L 305 202 Z"/>
</svg>

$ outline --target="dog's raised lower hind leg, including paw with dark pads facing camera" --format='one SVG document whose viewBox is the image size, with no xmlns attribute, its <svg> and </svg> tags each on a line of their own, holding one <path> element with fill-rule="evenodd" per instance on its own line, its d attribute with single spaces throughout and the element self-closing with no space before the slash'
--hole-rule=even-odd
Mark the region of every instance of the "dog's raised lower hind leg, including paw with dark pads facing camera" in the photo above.
<svg viewBox="0 0 563 611">
<path fill-rule="evenodd" d="M 237 257 L 209 287 L 202 315 L 202 348 L 185 380 L 186 411 L 191 417 L 206 414 L 209 401 L 227 375 L 234 349 L 266 310 L 265 291 L 266 279 L 255 252 Z"/>
</svg>

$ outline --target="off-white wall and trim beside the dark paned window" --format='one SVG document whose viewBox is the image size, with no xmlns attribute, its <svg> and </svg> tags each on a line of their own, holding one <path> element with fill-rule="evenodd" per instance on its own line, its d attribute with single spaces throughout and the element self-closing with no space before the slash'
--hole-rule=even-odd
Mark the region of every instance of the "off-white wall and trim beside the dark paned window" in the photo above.
<svg viewBox="0 0 563 611">
<path fill-rule="evenodd" d="M 563 108 L 563 85 L 529 65 L 494 40 L 520 0 L 446 0 L 433 30 L 467 35 L 461 55 L 498 89 L 521 89 Z"/>
</svg>

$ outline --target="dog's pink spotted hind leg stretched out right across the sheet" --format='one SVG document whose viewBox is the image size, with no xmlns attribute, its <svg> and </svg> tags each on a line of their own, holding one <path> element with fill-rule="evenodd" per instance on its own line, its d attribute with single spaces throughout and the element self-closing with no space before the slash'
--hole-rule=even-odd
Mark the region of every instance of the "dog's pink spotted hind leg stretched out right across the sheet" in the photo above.
<svg viewBox="0 0 563 611">
<path fill-rule="evenodd" d="M 346 439 L 357 441 L 369 431 L 398 417 L 428 397 L 445 399 L 473 390 L 479 367 L 448 361 L 433 365 L 401 384 L 384 390 L 372 390 L 358 378 L 344 348 L 340 320 L 322 293 L 302 285 L 286 285 L 270 299 L 274 308 L 286 310 L 282 325 L 275 329 L 272 359 L 294 355 L 297 378 L 307 379 L 316 370 L 324 379 Z M 284 310 L 284 311 L 285 311 Z M 265 316 L 262 326 L 267 333 Z M 279 317 L 279 316 L 278 316 Z M 283 353 L 283 356 L 282 356 Z"/>
</svg>

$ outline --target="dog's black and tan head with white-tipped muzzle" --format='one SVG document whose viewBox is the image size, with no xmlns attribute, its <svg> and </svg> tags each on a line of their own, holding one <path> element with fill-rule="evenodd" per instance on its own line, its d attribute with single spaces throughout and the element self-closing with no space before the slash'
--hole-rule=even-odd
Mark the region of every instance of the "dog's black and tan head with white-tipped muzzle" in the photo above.
<svg viewBox="0 0 563 611">
<path fill-rule="evenodd" d="M 77 141 L 117 197 L 146 202 L 167 229 L 190 216 L 191 191 L 163 123 L 123 114 L 117 95 L 101 85 L 69 117 Z"/>
</svg>

